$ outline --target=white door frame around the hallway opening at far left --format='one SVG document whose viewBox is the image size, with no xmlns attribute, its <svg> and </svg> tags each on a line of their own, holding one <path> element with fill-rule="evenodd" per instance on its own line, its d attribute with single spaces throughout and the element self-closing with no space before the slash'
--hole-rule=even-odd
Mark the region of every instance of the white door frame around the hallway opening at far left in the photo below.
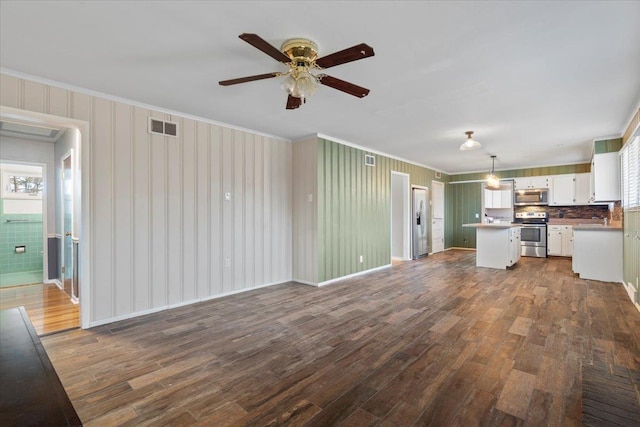
<svg viewBox="0 0 640 427">
<path fill-rule="evenodd" d="M 79 224 L 80 262 L 78 266 L 79 290 L 80 293 L 80 326 L 83 329 L 90 327 L 91 323 L 91 218 L 92 210 L 90 203 L 91 195 L 91 140 L 89 122 L 83 120 L 70 119 L 67 117 L 55 116 L 51 114 L 38 113 L 35 111 L 21 110 L 18 108 L 0 105 L 0 119 L 18 123 L 42 126 L 60 126 L 77 130 L 76 164 L 80 169 L 76 178 L 75 197 L 80 198 Z M 55 162 L 54 159 L 54 165 Z M 55 180 L 54 180 L 55 182 Z M 78 191 L 79 187 L 79 191 Z M 45 189 L 46 191 L 46 189 Z M 43 193 L 44 196 L 44 193 Z M 44 219 L 44 218 L 43 218 Z M 44 224 L 43 224 L 44 226 Z M 43 268 L 44 272 L 44 268 Z"/>
</svg>

